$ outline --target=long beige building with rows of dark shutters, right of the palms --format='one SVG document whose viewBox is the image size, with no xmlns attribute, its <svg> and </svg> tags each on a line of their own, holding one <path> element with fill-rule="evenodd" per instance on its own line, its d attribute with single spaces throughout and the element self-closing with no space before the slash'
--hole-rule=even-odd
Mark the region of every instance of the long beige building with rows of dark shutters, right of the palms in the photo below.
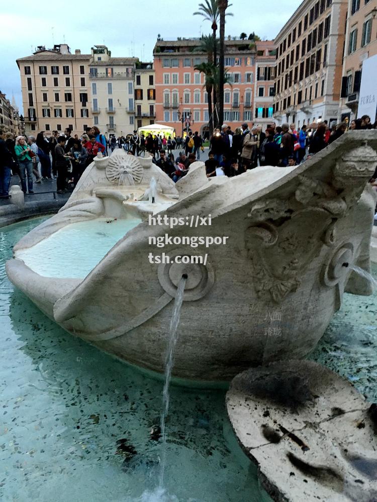
<svg viewBox="0 0 377 502">
<path fill-rule="evenodd" d="M 277 123 L 337 121 L 347 7 L 348 0 L 304 0 L 276 36 Z"/>
</svg>

